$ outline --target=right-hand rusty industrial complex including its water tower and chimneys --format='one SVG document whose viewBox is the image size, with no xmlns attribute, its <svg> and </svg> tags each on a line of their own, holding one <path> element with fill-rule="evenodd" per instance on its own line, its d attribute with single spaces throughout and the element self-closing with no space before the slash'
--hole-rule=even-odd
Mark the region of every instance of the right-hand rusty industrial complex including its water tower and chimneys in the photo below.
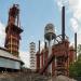
<svg viewBox="0 0 81 81">
<path fill-rule="evenodd" d="M 44 49 L 36 54 L 36 69 L 41 75 L 69 76 L 69 65 L 77 57 L 77 35 L 75 36 L 75 48 L 65 33 L 65 6 L 62 9 L 62 35 L 56 35 L 54 25 L 48 24 L 44 29 Z M 53 42 L 53 43 L 52 43 Z"/>
</svg>

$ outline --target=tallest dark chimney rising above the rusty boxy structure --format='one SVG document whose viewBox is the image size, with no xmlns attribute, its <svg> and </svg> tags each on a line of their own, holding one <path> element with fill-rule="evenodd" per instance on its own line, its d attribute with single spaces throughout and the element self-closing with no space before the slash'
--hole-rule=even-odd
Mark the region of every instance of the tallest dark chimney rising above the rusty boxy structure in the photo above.
<svg viewBox="0 0 81 81">
<path fill-rule="evenodd" d="M 62 9 L 62 38 L 65 40 L 65 6 Z"/>
</svg>

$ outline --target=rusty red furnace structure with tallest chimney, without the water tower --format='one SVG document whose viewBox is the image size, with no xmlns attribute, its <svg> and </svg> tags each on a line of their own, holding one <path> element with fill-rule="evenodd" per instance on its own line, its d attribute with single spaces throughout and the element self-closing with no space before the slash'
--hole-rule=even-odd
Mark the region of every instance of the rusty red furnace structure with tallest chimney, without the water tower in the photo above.
<svg viewBox="0 0 81 81">
<path fill-rule="evenodd" d="M 62 35 L 56 36 L 54 41 L 50 55 L 48 46 L 40 52 L 39 57 L 37 56 L 37 66 L 42 65 L 39 67 L 39 73 L 48 75 L 49 66 L 52 66 L 52 76 L 69 76 L 69 64 L 73 62 L 75 49 L 69 45 L 68 37 L 65 35 L 65 6 L 62 9 Z"/>
</svg>

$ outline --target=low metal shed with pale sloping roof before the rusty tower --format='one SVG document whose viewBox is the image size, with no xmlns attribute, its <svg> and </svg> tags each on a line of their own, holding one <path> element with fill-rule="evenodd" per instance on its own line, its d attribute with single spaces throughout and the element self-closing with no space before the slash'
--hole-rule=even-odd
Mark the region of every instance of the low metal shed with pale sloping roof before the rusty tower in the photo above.
<svg viewBox="0 0 81 81">
<path fill-rule="evenodd" d="M 0 71 L 21 70 L 23 64 L 24 63 L 21 60 L 19 57 L 13 56 L 5 49 L 0 48 Z"/>
</svg>

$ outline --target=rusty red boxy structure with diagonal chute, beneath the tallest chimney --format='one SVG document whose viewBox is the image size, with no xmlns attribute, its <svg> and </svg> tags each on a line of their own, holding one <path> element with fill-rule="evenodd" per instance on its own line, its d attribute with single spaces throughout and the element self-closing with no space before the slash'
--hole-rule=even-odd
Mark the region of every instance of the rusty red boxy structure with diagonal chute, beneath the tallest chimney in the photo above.
<svg viewBox="0 0 81 81">
<path fill-rule="evenodd" d="M 69 51 L 70 50 L 68 40 L 65 40 L 64 42 L 59 41 L 57 44 L 54 44 L 52 46 L 52 54 L 50 56 L 48 56 L 48 52 L 44 53 L 44 55 L 46 55 L 48 58 L 45 59 L 46 56 L 43 58 L 45 63 L 43 63 L 43 67 L 40 69 L 40 73 L 43 75 L 48 67 L 52 64 L 52 76 L 68 76 Z M 43 54 L 41 53 L 41 55 Z"/>
</svg>

